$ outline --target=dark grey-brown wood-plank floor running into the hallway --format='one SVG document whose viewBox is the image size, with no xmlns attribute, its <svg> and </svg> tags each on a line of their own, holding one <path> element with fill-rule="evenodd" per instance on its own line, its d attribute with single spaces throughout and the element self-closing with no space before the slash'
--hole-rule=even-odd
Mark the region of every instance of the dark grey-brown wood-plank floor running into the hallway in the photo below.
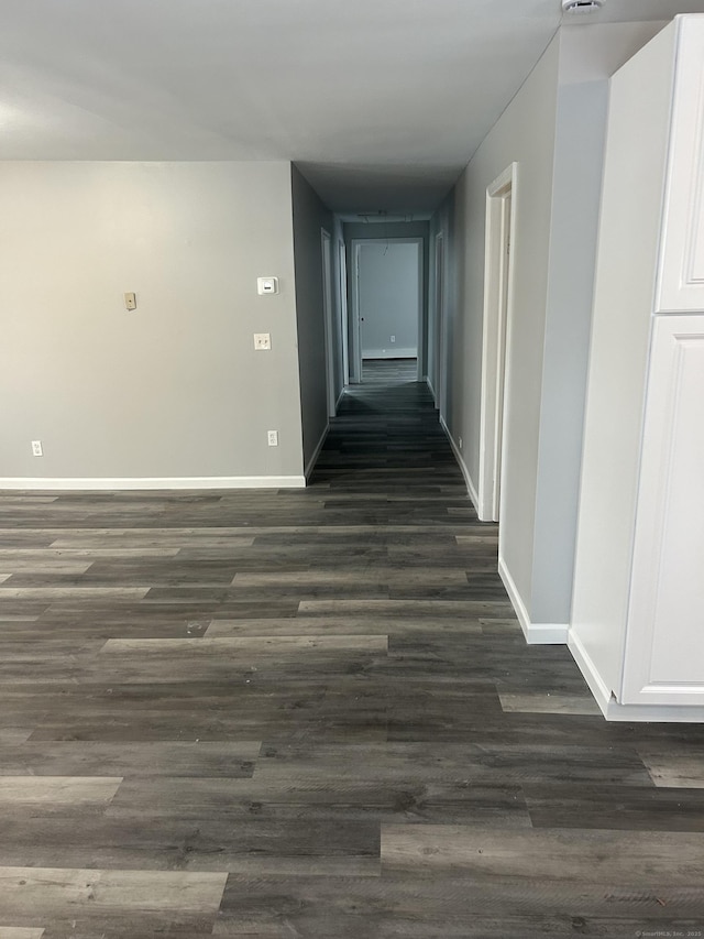
<svg viewBox="0 0 704 939">
<path fill-rule="evenodd" d="M 306 491 L 0 496 L 0 939 L 702 935 L 704 728 L 526 646 L 371 368 Z"/>
</svg>

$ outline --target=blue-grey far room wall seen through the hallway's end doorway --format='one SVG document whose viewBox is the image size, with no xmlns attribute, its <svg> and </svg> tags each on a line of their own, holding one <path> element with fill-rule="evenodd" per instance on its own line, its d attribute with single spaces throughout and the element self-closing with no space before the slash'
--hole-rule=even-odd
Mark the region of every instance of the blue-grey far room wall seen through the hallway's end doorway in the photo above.
<svg viewBox="0 0 704 939">
<path fill-rule="evenodd" d="M 362 358 L 418 354 L 421 248 L 413 242 L 360 245 L 359 291 Z"/>
</svg>

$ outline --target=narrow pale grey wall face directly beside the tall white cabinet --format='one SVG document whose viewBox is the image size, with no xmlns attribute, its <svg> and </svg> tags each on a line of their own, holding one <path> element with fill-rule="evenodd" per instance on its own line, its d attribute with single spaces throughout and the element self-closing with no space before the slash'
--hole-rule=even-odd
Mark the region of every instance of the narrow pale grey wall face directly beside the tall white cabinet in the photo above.
<svg viewBox="0 0 704 939">
<path fill-rule="evenodd" d="M 663 25 L 582 24 L 560 35 L 529 604 L 535 623 L 570 620 L 608 78 Z"/>
</svg>

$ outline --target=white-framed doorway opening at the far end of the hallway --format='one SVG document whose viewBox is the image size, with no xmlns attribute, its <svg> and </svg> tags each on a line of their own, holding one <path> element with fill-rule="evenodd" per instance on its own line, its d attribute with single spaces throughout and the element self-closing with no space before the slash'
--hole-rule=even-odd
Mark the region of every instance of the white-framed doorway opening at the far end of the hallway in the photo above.
<svg viewBox="0 0 704 939">
<path fill-rule="evenodd" d="M 424 239 L 353 239 L 351 247 L 351 380 L 376 381 L 384 372 L 420 381 Z"/>
</svg>

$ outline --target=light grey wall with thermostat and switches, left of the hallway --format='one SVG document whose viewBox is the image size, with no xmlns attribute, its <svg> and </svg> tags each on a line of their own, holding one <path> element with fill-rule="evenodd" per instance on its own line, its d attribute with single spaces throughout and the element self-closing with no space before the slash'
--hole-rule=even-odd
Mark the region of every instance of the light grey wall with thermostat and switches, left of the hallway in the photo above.
<svg viewBox="0 0 704 939">
<path fill-rule="evenodd" d="M 1 164 L 0 477 L 299 482 L 290 199 L 283 162 Z"/>
</svg>

